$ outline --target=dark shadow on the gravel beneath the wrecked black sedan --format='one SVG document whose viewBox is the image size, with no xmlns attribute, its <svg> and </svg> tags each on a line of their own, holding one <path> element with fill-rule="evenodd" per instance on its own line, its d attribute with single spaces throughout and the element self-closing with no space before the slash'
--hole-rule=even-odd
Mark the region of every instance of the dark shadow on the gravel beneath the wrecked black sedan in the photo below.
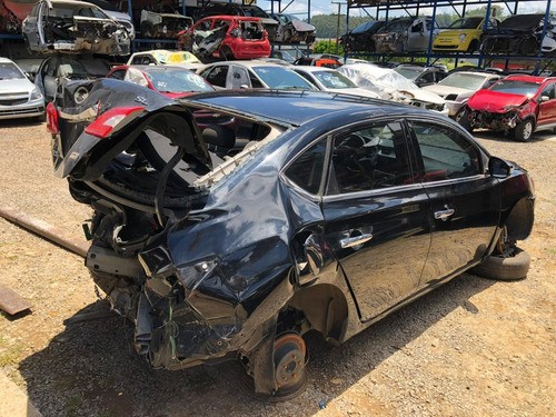
<svg viewBox="0 0 556 417">
<path fill-rule="evenodd" d="M 340 347 L 310 336 L 309 386 L 288 404 L 265 404 L 239 388 L 235 363 L 180 371 L 155 370 L 132 349 L 132 329 L 118 316 L 69 325 L 19 370 L 44 416 L 309 416 L 380 363 L 461 307 L 493 281 L 464 274 L 371 326 Z M 78 314 L 108 309 L 103 301 Z M 341 378 L 341 386 L 331 383 Z"/>
</svg>

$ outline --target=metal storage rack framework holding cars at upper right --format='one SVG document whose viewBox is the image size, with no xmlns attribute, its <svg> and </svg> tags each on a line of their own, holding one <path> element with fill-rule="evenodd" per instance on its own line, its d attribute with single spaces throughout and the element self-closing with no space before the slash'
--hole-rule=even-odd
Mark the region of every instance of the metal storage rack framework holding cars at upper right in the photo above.
<svg viewBox="0 0 556 417">
<path fill-rule="evenodd" d="M 532 2 L 535 0 L 516 0 L 516 1 L 507 1 L 507 0 L 347 0 L 347 12 L 346 12 L 346 28 L 349 27 L 349 11 L 351 9 L 368 9 L 373 8 L 375 11 L 375 19 L 378 20 L 379 16 L 384 13 L 386 16 L 386 21 L 388 21 L 389 18 L 389 12 L 391 10 L 404 10 L 408 16 L 418 16 L 421 9 L 427 8 L 427 9 L 433 9 L 431 18 L 433 20 L 436 20 L 436 12 L 437 9 L 440 7 L 450 7 L 459 17 L 465 17 L 466 10 L 469 6 L 481 6 L 486 7 L 486 16 L 485 16 L 485 26 L 486 21 L 490 18 L 490 11 L 493 4 L 504 4 L 506 9 L 510 12 L 510 14 L 516 14 L 519 4 L 526 3 L 526 2 Z M 510 3 L 513 3 L 513 8 L 510 8 Z M 545 10 L 545 24 L 543 29 L 543 37 L 546 34 L 546 28 L 547 23 L 549 21 L 550 17 L 550 4 L 552 0 L 546 0 L 546 10 Z M 456 7 L 461 7 L 461 13 L 458 11 Z M 365 10 L 369 17 L 371 13 L 369 13 L 367 10 Z M 552 58 L 544 57 L 542 56 L 542 52 L 539 52 L 536 56 L 499 56 L 499 54 L 473 54 L 473 53 L 465 53 L 465 52 L 435 52 L 433 51 L 433 31 L 434 28 L 430 29 L 430 38 L 429 38 L 429 44 L 428 49 L 426 52 L 423 53 L 377 53 L 377 52 L 365 52 L 365 53 L 346 53 L 347 57 L 355 57 L 355 56 L 375 56 L 377 58 L 380 58 L 383 60 L 387 60 L 386 58 L 391 58 L 391 57 L 407 57 L 410 58 L 411 61 L 414 61 L 415 58 L 425 58 L 426 59 L 426 64 L 431 64 L 436 62 L 440 58 L 448 58 L 448 59 L 455 59 L 456 60 L 456 66 L 459 59 L 477 59 L 478 60 L 478 67 L 488 67 L 493 61 L 498 61 L 498 60 L 504 60 L 505 61 L 505 67 L 508 67 L 509 61 L 535 61 L 535 73 L 538 73 L 539 71 L 546 69 L 550 62 L 553 61 Z M 542 67 L 542 63 L 544 63 L 544 67 Z"/>
</svg>

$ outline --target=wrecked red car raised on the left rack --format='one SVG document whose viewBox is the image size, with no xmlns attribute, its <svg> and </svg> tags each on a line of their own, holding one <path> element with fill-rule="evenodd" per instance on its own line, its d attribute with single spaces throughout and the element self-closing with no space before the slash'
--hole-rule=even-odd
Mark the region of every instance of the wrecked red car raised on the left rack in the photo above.
<svg viewBox="0 0 556 417">
<path fill-rule="evenodd" d="M 270 56 L 268 33 L 259 18 L 211 16 L 178 34 L 178 48 L 201 61 L 256 59 Z"/>
</svg>

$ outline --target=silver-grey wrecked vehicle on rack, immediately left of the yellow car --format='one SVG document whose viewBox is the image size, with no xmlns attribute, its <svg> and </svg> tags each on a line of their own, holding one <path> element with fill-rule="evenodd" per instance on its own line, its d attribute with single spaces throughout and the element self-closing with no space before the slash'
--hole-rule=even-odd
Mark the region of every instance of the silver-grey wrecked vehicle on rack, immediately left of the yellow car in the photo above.
<svg viewBox="0 0 556 417">
<path fill-rule="evenodd" d="M 428 17 L 396 18 L 373 34 L 373 40 L 377 52 L 426 51 L 438 30 L 436 21 Z"/>
</svg>

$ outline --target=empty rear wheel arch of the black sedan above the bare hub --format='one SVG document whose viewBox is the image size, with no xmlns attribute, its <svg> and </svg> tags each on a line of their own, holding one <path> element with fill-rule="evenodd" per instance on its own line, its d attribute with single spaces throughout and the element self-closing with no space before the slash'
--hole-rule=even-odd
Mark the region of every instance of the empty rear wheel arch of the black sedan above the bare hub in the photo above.
<svg viewBox="0 0 556 417">
<path fill-rule="evenodd" d="M 330 342 L 339 342 L 347 325 L 348 305 L 340 289 L 320 284 L 298 290 L 289 306 L 302 311 L 311 329 Z"/>
</svg>

